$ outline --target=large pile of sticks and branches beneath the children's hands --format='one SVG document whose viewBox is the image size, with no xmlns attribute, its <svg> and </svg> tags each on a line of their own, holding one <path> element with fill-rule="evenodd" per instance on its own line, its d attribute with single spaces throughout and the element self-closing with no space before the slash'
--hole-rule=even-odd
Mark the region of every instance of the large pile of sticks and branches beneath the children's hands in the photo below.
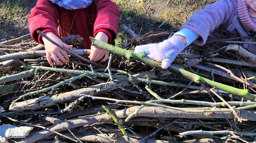
<svg viewBox="0 0 256 143">
<path fill-rule="evenodd" d="M 162 70 L 126 50 L 171 34 L 150 32 L 122 48 L 91 39 L 113 53 L 108 62 L 75 49 L 67 65 L 54 67 L 29 34 L 1 43 L 1 142 L 256 141 L 256 55 L 211 40 Z"/>
</svg>

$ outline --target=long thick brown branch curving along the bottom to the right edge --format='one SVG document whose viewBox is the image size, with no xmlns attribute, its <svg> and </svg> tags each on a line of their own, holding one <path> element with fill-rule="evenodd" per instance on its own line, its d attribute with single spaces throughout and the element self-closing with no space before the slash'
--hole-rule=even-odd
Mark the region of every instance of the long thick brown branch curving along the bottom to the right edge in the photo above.
<svg viewBox="0 0 256 143">
<path fill-rule="evenodd" d="M 133 106 L 125 110 L 113 111 L 119 119 L 126 118 L 135 110 L 137 110 L 138 106 Z M 201 109 L 201 108 L 200 108 Z M 186 108 L 186 110 L 191 110 L 190 108 Z M 192 110 L 195 110 L 193 108 Z M 241 110 L 240 116 L 243 119 L 248 119 L 249 121 L 256 121 L 256 111 L 249 110 Z M 138 111 L 137 117 L 171 117 L 171 118 L 205 118 L 205 119 L 213 119 L 213 118 L 234 118 L 230 111 L 227 112 L 215 112 L 214 114 L 207 113 L 186 113 L 183 111 L 172 110 L 172 109 L 164 109 L 162 107 L 144 107 Z M 50 130 L 55 130 L 57 132 L 61 132 L 68 129 L 74 129 L 80 126 L 84 126 L 84 124 L 93 124 L 99 122 L 113 122 L 111 116 L 107 113 L 99 113 L 97 115 L 89 115 L 85 117 L 78 117 L 67 121 L 62 121 L 60 123 L 54 124 L 48 127 Z M 33 143 L 44 137 L 51 136 L 54 133 L 48 130 L 39 130 L 31 133 L 26 139 L 22 139 L 19 142 L 27 142 Z"/>
</svg>

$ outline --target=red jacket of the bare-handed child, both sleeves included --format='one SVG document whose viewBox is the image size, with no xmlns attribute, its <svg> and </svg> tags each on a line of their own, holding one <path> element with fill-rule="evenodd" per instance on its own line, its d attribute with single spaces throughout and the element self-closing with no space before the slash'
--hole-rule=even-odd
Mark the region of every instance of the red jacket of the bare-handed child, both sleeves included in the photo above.
<svg viewBox="0 0 256 143">
<path fill-rule="evenodd" d="M 42 36 L 37 34 L 37 30 L 51 31 L 61 37 L 79 34 L 84 39 L 83 46 L 90 49 L 89 37 L 95 37 L 98 32 L 106 33 L 108 43 L 114 43 L 119 17 L 119 9 L 111 0 L 93 0 L 89 7 L 76 10 L 59 7 L 49 0 L 38 0 L 29 15 L 28 26 L 31 37 L 40 44 L 43 44 Z"/>
</svg>

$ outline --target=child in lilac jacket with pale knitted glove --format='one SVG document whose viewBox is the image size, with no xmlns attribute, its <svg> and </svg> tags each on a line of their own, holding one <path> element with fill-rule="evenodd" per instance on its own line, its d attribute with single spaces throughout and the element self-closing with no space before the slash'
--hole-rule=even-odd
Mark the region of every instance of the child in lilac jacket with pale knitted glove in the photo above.
<svg viewBox="0 0 256 143">
<path fill-rule="evenodd" d="M 192 42 L 204 45 L 209 34 L 217 28 L 235 37 L 255 37 L 256 0 L 218 0 L 194 13 L 171 38 L 157 44 L 138 45 L 134 51 L 162 62 L 162 68 L 166 69 Z M 256 54 L 256 45 L 244 44 L 243 47 Z"/>
</svg>

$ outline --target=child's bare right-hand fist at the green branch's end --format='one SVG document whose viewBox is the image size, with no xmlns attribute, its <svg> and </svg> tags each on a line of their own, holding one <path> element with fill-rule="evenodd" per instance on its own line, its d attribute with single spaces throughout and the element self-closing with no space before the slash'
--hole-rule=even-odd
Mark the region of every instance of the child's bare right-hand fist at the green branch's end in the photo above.
<svg viewBox="0 0 256 143">
<path fill-rule="evenodd" d="M 98 32 L 95 39 L 107 43 L 109 37 L 104 32 Z M 91 46 L 90 48 L 91 48 L 91 52 L 90 52 L 89 58 L 91 61 L 97 62 L 97 61 L 101 60 L 101 62 L 104 62 L 108 59 L 108 57 L 109 57 L 108 51 L 100 49 L 96 46 Z"/>
</svg>

